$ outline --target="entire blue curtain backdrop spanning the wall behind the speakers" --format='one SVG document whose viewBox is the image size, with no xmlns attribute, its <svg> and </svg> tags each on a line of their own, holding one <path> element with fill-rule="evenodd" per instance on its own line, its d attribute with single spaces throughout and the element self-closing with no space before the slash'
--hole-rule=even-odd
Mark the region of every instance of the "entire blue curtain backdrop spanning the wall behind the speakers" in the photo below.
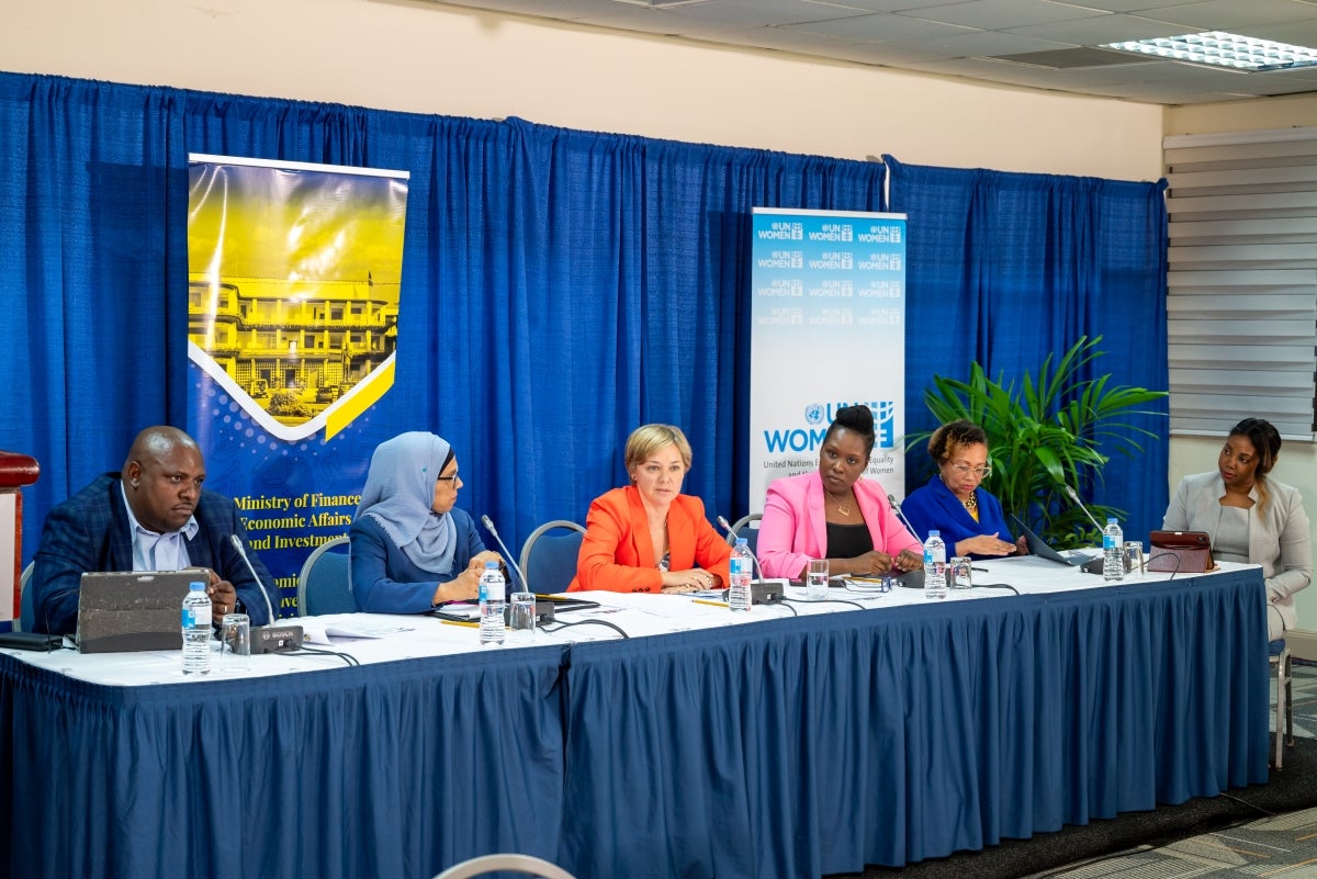
<svg viewBox="0 0 1317 879">
<path fill-rule="evenodd" d="M 117 470 L 140 428 L 187 424 L 188 153 L 411 172 L 396 382 L 331 443 L 362 462 L 400 430 L 440 433 L 460 503 L 514 547 L 622 484 L 645 421 L 689 432 L 686 490 L 711 515 L 745 512 L 749 209 L 886 208 L 874 162 L 0 74 L 0 446 L 42 466 L 25 561 L 50 507 Z M 1112 339 L 1119 380 L 1166 387 L 1156 186 L 894 167 L 911 429 L 934 372 L 1035 367 L 1085 332 Z M 1150 455 L 1108 476 L 1135 521 L 1166 503 L 1144 476 L 1164 442 Z"/>
</svg>

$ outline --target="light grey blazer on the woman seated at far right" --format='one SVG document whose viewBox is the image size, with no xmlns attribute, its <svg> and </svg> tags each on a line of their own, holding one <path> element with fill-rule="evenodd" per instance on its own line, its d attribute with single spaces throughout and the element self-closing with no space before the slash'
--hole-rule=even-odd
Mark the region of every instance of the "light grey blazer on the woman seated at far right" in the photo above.
<svg viewBox="0 0 1317 879">
<path fill-rule="evenodd" d="M 1259 517 L 1255 505 L 1249 516 L 1249 561 L 1262 566 L 1267 600 L 1280 613 L 1287 630 L 1299 625 L 1295 592 L 1313 579 L 1312 534 L 1299 490 L 1267 480 L 1267 509 Z M 1195 474 L 1180 480 L 1162 528 L 1176 532 L 1206 532 L 1216 543 L 1221 521 L 1221 497 L 1226 484 L 1220 472 Z M 1249 492 L 1258 501 L 1258 487 Z"/>
</svg>

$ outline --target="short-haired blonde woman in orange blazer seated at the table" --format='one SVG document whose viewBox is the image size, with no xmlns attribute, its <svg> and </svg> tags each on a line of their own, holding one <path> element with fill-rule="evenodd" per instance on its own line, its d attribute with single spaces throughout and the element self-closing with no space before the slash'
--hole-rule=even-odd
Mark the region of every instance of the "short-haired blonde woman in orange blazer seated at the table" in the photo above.
<svg viewBox="0 0 1317 879">
<path fill-rule="evenodd" d="M 631 484 L 595 497 L 569 592 L 691 592 L 728 583 L 731 546 L 681 493 L 690 443 L 680 428 L 647 424 L 627 440 Z"/>
</svg>

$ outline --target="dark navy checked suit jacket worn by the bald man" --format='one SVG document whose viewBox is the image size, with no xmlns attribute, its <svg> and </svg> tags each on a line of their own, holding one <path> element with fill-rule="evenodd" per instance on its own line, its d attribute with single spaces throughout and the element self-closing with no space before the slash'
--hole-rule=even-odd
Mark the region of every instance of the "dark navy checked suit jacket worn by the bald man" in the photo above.
<svg viewBox="0 0 1317 879">
<path fill-rule="evenodd" d="M 252 578 L 230 537 L 237 534 L 246 546 L 246 530 L 238 518 L 237 505 L 224 495 L 202 490 L 192 512 L 200 528 L 186 541 L 187 558 L 194 567 L 208 567 L 237 590 L 253 625 L 269 622 L 265 595 L 278 608 L 274 578 L 248 546 L 252 567 L 261 576 Z M 41 529 L 29 588 L 33 592 L 33 630 L 72 634 L 78 629 L 78 588 L 87 571 L 132 571 L 133 538 L 129 533 L 128 508 L 117 472 L 99 476 L 96 482 L 59 504 L 46 516 Z M 275 611 L 278 613 L 278 611 Z"/>
</svg>

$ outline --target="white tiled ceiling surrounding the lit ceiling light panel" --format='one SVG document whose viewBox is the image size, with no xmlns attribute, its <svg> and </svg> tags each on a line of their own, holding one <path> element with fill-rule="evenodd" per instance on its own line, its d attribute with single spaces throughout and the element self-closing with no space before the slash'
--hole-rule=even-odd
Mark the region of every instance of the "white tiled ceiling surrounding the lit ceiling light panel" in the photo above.
<svg viewBox="0 0 1317 879">
<path fill-rule="evenodd" d="M 1317 70 L 1246 75 L 1138 55 L 1130 63 L 1063 68 L 989 59 L 1058 50 L 1072 55 L 1076 47 L 1209 29 L 1314 46 L 1317 0 L 433 1 L 1142 103 L 1317 92 Z"/>
</svg>

